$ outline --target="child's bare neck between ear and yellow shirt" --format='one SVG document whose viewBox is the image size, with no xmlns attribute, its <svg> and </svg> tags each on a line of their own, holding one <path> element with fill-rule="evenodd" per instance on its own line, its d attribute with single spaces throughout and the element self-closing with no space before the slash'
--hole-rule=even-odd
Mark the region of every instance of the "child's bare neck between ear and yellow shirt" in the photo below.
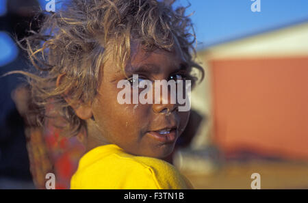
<svg viewBox="0 0 308 203">
<path fill-rule="evenodd" d="M 97 127 L 97 125 L 94 123 L 95 121 L 92 119 L 86 120 L 87 122 L 87 144 L 86 144 L 86 152 L 92 150 L 93 148 L 96 148 L 98 146 L 103 146 L 106 144 L 110 144 L 107 139 L 105 139 L 101 135 L 101 131 Z"/>
</svg>

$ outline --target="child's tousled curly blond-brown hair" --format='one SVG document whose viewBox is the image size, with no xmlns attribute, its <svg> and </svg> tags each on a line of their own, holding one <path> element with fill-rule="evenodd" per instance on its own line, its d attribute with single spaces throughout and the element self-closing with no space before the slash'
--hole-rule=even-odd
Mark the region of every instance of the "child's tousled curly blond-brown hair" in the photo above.
<svg viewBox="0 0 308 203">
<path fill-rule="evenodd" d="M 192 22 L 184 14 L 186 8 L 174 10 L 173 3 L 70 0 L 63 10 L 47 15 L 38 33 L 20 41 L 36 71 L 14 71 L 27 76 L 39 107 L 38 120 L 48 116 L 46 108 L 52 103 L 70 135 L 77 135 L 86 122 L 76 116 L 63 94 L 72 100 L 91 101 L 97 94 L 99 70 L 107 59 L 113 57 L 124 70 L 131 40 L 138 40 L 147 51 L 170 51 L 177 38 L 191 72 L 192 68 L 200 70 L 203 79 L 203 69 L 193 62 L 191 54 L 196 42 Z M 55 85 L 57 77 L 64 74 L 63 82 Z M 196 77 L 192 79 L 196 81 Z"/>
</svg>

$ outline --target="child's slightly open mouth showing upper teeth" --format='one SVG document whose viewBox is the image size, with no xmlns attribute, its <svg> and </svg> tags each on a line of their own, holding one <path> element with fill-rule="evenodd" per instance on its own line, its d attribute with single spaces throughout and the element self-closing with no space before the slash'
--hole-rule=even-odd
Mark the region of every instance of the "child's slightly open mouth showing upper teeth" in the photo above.
<svg viewBox="0 0 308 203">
<path fill-rule="evenodd" d="M 173 143 L 177 139 L 176 128 L 164 128 L 159 131 L 149 131 L 148 134 L 162 143 Z"/>
</svg>

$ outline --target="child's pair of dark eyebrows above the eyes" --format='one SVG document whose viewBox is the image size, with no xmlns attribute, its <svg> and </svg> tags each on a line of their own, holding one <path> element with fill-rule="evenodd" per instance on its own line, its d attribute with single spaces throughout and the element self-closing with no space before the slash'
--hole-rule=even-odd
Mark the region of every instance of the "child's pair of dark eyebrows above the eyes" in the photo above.
<svg viewBox="0 0 308 203">
<path fill-rule="evenodd" d="M 175 69 L 172 72 L 177 72 L 181 70 L 188 70 L 189 66 L 187 62 L 181 62 L 179 66 L 177 66 L 177 69 Z M 159 67 L 155 64 L 143 64 L 142 66 L 130 66 L 126 72 L 133 73 L 133 72 L 151 72 L 151 73 L 158 73 Z"/>
</svg>

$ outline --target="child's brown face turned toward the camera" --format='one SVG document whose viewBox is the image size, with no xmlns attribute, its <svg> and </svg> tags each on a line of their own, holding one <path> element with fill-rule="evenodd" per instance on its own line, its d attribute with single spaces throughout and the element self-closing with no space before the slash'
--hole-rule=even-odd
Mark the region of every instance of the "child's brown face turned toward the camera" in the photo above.
<svg viewBox="0 0 308 203">
<path fill-rule="evenodd" d="M 186 67 L 185 58 L 178 44 L 171 52 L 156 49 L 146 53 L 140 44 L 133 43 L 131 56 L 131 62 L 125 68 L 127 77 L 138 74 L 142 79 L 168 81 L 170 77 L 188 75 L 183 68 Z M 92 105 L 101 135 L 131 154 L 156 158 L 168 156 L 188 122 L 190 111 L 177 111 L 178 105 L 170 104 L 170 100 L 168 104 L 118 103 L 118 92 L 123 90 L 117 88 L 118 81 L 127 78 L 114 64 L 112 59 L 105 63 L 99 94 Z M 143 67 L 142 70 L 140 67 Z M 171 111 L 169 115 L 166 114 L 167 109 Z M 172 128 L 172 131 L 166 135 L 159 132 L 157 138 L 157 131 L 166 128 Z M 164 136 L 165 139 L 162 138 Z"/>
</svg>

